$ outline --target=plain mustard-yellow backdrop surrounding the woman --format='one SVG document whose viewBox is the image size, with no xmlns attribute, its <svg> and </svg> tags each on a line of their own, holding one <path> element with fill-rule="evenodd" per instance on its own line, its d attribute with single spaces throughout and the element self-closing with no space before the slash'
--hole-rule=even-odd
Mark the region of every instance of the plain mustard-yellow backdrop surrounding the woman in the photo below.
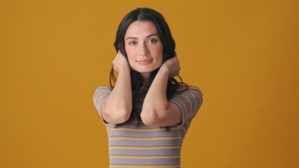
<svg viewBox="0 0 299 168">
<path fill-rule="evenodd" d="M 204 93 L 182 168 L 299 167 L 298 0 L 1 0 L 1 168 L 108 168 L 92 95 L 136 7 L 164 15 Z"/>
</svg>

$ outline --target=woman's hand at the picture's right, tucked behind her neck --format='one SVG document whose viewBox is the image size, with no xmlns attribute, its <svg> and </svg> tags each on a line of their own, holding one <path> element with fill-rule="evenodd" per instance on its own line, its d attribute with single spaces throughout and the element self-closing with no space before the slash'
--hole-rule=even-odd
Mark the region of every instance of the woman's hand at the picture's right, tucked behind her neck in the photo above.
<svg viewBox="0 0 299 168">
<path fill-rule="evenodd" d="M 167 68 L 169 70 L 168 78 L 179 75 L 180 66 L 178 56 L 167 59 L 160 68 Z"/>
</svg>

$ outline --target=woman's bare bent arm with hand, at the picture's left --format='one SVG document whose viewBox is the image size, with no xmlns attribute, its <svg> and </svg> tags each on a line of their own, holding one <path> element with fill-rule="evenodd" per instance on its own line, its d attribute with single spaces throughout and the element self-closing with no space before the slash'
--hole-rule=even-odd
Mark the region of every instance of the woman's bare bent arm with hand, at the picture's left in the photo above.
<svg viewBox="0 0 299 168">
<path fill-rule="evenodd" d="M 117 82 L 101 108 L 102 117 L 112 124 L 120 124 L 130 118 L 132 111 L 132 88 L 130 66 L 118 52 L 113 68 L 119 72 Z"/>
</svg>

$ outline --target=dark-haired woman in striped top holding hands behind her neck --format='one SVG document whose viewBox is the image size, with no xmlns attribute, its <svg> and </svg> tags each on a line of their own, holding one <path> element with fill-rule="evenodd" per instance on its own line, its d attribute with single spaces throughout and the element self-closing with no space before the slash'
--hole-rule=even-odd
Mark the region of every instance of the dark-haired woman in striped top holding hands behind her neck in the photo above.
<svg viewBox="0 0 299 168">
<path fill-rule="evenodd" d="M 180 67 L 166 21 L 137 8 L 120 22 L 114 46 L 111 87 L 93 96 L 107 128 L 110 168 L 180 168 L 182 141 L 203 97 L 173 78 Z"/>
</svg>

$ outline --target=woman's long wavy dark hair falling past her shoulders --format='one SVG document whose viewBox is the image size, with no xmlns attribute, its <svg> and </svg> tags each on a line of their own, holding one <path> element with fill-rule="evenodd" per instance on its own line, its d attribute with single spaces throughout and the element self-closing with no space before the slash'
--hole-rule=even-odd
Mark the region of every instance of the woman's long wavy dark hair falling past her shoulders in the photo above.
<svg viewBox="0 0 299 168">
<path fill-rule="evenodd" d="M 150 8 L 137 8 L 129 12 L 124 16 L 124 18 L 121 20 L 117 34 L 116 34 L 116 40 L 114 43 L 114 47 L 116 51 L 118 52 L 120 50 L 121 54 L 127 59 L 128 61 L 128 56 L 126 54 L 125 48 L 124 48 L 124 35 L 126 33 L 127 28 L 132 22 L 135 21 L 151 21 L 152 23 L 155 24 L 155 27 L 158 31 L 158 35 L 161 39 L 161 42 L 163 44 L 163 59 L 162 62 L 165 62 L 165 60 L 172 58 L 176 56 L 176 43 L 175 40 L 173 39 L 170 29 L 163 18 L 163 16 Z M 163 64 L 163 63 L 162 63 Z M 156 74 L 158 73 L 160 68 L 157 68 L 156 70 L 152 71 L 150 76 L 149 76 L 149 83 L 146 84 L 146 86 L 150 86 L 153 79 L 155 78 Z M 141 74 L 132 68 L 130 68 L 130 75 L 131 75 L 131 87 L 132 87 L 132 98 L 136 96 L 137 92 L 140 90 L 141 86 L 143 85 L 143 79 L 141 77 Z M 166 90 L 166 95 L 167 99 L 169 100 L 173 95 L 184 91 L 188 89 L 188 85 L 182 82 L 182 79 L 180 76 L 178 76 L 180 79 L 180 82 L 178 82 L 176 79 L 171 78 L 168 79 L 167 83 L 167 90 Z M 114 75 L 113 71 L 113 66 L 111 68 L 110 72 L 110 86 L 114 87 L 112 85 L 112 81 L 114 84 L 116 83 L 117 79 Z M 182 87 L 181 89 L 179 89 Z M 178 90 L 179 89 L 179 90 Z M 132 112 L 130 119 L 134 117 L 134 113 L 137 114 L 139 121 L 141 120 L 140 115 L 136 111 L 136 108 L 134 107 L 134 103 L 132 105 Z M 129 119 L 129 120 L 130 120 Z"/>
</svg>

